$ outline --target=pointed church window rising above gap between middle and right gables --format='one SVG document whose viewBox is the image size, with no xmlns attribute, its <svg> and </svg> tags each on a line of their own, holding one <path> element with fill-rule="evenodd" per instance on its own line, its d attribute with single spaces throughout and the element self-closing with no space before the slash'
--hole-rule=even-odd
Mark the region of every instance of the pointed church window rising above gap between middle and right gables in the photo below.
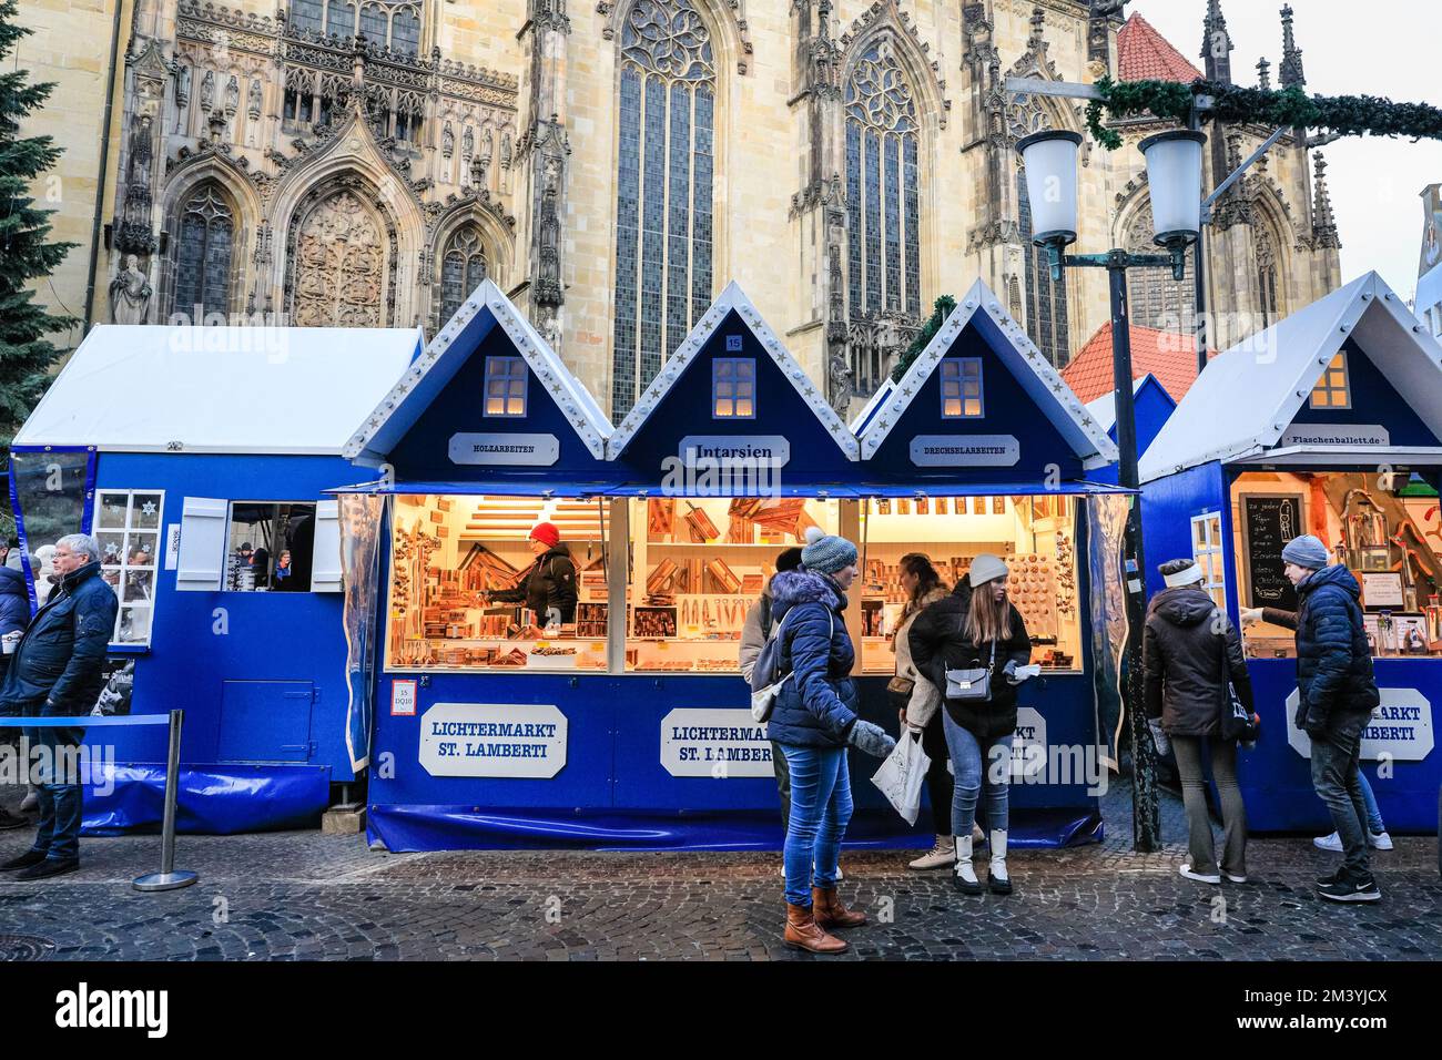
<svg viewBox="0 0 1442 1060">
<path fill-rule="evenodd" d="M 920 125 L 888 37 L 878 37 L 857 59 L 845 102 L 851 319 L 884 310 L 920 316 Z M 862 392 L 880 382 L 861 375 Z"/>
</svg>

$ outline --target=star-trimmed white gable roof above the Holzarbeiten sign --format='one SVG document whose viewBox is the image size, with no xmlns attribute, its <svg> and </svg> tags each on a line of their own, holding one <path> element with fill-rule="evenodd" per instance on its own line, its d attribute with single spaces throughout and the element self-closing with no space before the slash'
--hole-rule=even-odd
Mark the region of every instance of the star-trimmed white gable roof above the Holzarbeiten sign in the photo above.
<svg viewBox="0 0 1442 1060">
<path fill-rule="evenodd" d="M 437 332 L 421 356 L 355 430 L 345 456 L 358 464 L 376 467 L 385 461 L 407 431 L 415 425 L 431 401 L 444 389 L 482 340 L 499 324 L 529 369 L 545 385 L 551 398 L 597 460 L 604 459 L 611 423 L 580 379 L 571 375 L 551 345 L 531 326 L 495 281 L 485 280 L 461 303 L 454 316 Z M 477 395 L 479 399 L 479 395 Z"/>
</svg>

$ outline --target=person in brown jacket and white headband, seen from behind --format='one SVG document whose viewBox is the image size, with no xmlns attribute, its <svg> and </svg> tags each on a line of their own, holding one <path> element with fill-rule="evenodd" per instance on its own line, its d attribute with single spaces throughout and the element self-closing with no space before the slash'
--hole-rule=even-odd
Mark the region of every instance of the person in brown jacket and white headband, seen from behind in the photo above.
<svg viewBox="0 0 1442 1060">
<path fill-rule="evenodd" d="M 1144 702 L 1146 717 L 1161 721 L 1177 751 L 1191 851 L 1181 874 L 1200 883 L 1221 883 L 1207 812 L 1206 740 L 1211 774 L 1221 795 L 1221 873 L 1233 883 L 1246 883 L 1247 813 L 1237 786 L 1237 744 L 1221 738 L 1227 681 L 1237 689 L 1247 714 L 1252 712 L 1252 676 L 1242 653 L 1242 636 L 1201 587 L 1203 571 L 1194 560 L 1171 560 L 1158 570 L 1167 588 L 1154 596 L 1146 609 Z"/>
</svg>

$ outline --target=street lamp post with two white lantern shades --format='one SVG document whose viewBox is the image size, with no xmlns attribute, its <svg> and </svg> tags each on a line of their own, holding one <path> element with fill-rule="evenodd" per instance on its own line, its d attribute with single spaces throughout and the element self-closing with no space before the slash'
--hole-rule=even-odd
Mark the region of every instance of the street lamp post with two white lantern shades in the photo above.
<svg viewBox="0 0 1442 1060">
<path fill-rule="evenodd" d="M 1174 130 L 1142 140 L 1151 187 L 1155 241 L 1165 254 L 1067 254 L 1077 234 L 1077 149 L 1082 134 L 1069 130 L 1034 133 L 1017 143 L 1027 172 L 1032 238 L 1044 247 L 1051 277 L 1061 270 L 1105 268 L 1112 299 L 1112 382 L 1116 388 L 1118 482 L 1138 489 L 1136 410 L 1132 399 L 1132 335 L 1126 304 L 1126 270 L 1167 268 L 1181 280 L 1187 268 L 1187 247 L 1197 239 L 1201 215 L 1203 133 Z M 1161 818 L 1156 806 L 1156 761 L 1142 710 L 1142 622 L 1146 611 L 1146 564 L 1142 554 L 1141 495 L 1126 515 L 1126 717 L 1132 737 L 1132 836 L 1138 851 L 1161 848 Z"/>
</svg>

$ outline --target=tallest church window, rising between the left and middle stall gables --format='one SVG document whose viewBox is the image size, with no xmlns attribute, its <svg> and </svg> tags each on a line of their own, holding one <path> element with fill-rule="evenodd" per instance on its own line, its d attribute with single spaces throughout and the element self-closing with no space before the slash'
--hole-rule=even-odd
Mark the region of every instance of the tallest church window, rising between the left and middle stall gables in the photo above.
<svg viewBox="0 0 1442 1060">
<path fill-rule="evenodd" d="M 689 0 L 636 0 L 620 42 L 613 418 L 711 304 L 717 82 Z"/>
</svg>

